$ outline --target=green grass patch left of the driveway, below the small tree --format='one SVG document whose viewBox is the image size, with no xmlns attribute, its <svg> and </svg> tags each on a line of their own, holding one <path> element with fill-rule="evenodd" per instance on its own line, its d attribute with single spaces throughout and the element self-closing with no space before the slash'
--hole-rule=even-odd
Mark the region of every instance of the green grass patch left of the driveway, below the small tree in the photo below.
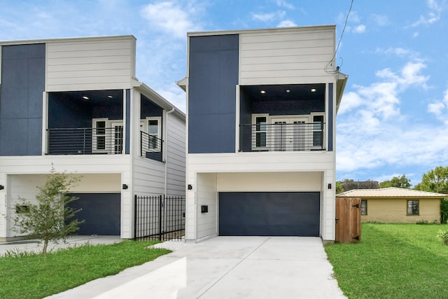
<svg viewBox="0 0 448 299">
<path fill-rule="evenodd" d="M 22 255 L 0 258 L 0 298 L 43 298 L 117 274 L 169 253 L 145 249 L 157 242 L 125 241 L 111 245 L 87 245 L 47 256 Z"/>
</svg>

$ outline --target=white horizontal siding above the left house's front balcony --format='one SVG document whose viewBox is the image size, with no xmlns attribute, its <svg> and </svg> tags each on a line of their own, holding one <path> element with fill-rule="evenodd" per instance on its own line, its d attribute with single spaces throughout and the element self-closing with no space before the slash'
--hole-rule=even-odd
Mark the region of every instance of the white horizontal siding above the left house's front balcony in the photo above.
<svg viewBox="0 0 448 299">
<path fill-rule="evenodd" d="M 135 42 L 133 36 L 49 41 L 45 90 L 130 88 Z"/>
</svg>

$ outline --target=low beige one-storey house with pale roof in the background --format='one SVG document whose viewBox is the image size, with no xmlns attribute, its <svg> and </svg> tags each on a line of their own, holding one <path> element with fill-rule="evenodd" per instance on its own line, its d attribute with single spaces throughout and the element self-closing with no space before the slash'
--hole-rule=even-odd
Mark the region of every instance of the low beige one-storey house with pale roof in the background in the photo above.
<svg viewBox="0 0 448 299">
<path fill-rule="evenodd" d="M 361 222 L 440 223 L 440 200 L 448 195 L 391 187 L 353 189 L 339 193 L 336 197 L 360 198 Z"/>
</svg>

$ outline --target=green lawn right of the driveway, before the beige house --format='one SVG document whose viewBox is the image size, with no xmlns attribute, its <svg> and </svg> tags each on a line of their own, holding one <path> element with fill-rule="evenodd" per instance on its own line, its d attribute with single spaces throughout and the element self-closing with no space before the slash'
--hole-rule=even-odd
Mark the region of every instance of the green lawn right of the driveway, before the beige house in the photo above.
<svg viewBox="0 0 448 299">
<path fill-rule="evenodd" d="M 440 224 L 363 223 L 359 244 L 325 245 L 335 278 L 354 298 L 448 298 Z"/>
</svg>

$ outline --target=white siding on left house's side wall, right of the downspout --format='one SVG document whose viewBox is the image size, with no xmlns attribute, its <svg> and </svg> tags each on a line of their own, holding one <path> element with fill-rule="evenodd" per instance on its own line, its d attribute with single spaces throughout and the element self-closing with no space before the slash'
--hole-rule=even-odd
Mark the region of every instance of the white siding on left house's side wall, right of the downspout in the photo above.
<svg viewBox="0 0 448 299">
<path fill-rule="evenodd" d="M 167 114 L 167 195 L 185 195 L 186 190 L 186 125 L 172 113 Z"/>
</svg>

